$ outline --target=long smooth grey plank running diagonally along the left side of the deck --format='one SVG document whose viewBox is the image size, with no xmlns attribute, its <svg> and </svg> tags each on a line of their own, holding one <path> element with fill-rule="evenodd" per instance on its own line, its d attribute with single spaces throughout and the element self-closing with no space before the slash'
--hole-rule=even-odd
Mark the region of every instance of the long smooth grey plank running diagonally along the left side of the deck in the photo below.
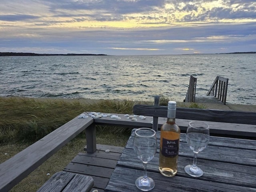
<svg viewBox="0 0 256 192">
<path fill-rule="evenodd" d="M 0 191 L 8 191 L 94 122 L 77 117 L 0 165 Z"/>
</svg>

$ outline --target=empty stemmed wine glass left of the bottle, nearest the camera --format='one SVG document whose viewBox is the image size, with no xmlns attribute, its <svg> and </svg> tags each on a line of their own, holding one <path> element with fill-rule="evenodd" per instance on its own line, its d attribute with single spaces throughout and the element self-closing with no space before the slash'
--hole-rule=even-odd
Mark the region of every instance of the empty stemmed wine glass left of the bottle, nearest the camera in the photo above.
<svg viewBox="0 0 256 192">
<path fill-rule="evenodd" d="M 147 176 L 147 163 L 153 159 L 156 149 L 156 131 L 150 128 L 136 129 L 134 135 L 134 151 L 143 163 L 144 175 L 136 179 L 135 185 L 142 191 L 152 190 L 155 186 L 154 180 Z"/>
</svg>

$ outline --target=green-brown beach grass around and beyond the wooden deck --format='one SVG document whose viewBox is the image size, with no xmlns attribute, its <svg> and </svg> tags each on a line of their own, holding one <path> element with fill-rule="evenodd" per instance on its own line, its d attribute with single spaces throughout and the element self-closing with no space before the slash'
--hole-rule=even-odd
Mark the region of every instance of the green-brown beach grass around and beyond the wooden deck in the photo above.
<svg viewBox="0 0 256 192">
<path fill-rule="evenodd" d="M 162 98 L 161 98 L 162 97 Z M 170 98 L 161 96 L 161 105 Z M 0 163 L 16 155 L 32 143 L 72 120 L 85 111 L 132 114 L 132 100 L 62 100 L 20 97 L 0 97 Z M 204 108 L 198 104 L 178 104 L 179 107 Z M 124 127 L 96 126 L 96 142 L 103 145 L 124 147 L 131 129 Z M 62 147 L 45 163 L 34 170 L 12 192 L 36 191 L 52 174 L 62 170 L 86 145 L 85 133 Z M 47 176 L 50 173 L 50 176 Z"/>
</svg>

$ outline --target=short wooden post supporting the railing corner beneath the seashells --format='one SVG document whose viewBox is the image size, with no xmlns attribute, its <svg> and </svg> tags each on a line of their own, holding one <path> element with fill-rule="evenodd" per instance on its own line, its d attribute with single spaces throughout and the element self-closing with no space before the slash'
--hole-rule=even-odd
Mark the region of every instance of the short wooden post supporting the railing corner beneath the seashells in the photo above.
<svg viewBox="0 0 256 192">
<path fill-rule="evenodd" d="M 96 127 L 91 124 L 85 129 L 86 133 L 86 151 L 87 153 L 94 153 L 96 151 Z"/>
</svg>

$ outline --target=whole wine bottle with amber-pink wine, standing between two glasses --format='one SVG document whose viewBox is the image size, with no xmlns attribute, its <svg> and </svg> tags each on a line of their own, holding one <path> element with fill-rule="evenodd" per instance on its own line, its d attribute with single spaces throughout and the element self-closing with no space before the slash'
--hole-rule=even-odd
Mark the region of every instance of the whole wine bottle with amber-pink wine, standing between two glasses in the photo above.
<svg viewBox="0 0 256 192">
<path fill-rule="evenodd" d="M 172 177 L 178 171 L 180 127 L 175 123 L 176 102 L 168 102 L 167 121 L 161 127 L 159 171 Z"/>
</svg>

